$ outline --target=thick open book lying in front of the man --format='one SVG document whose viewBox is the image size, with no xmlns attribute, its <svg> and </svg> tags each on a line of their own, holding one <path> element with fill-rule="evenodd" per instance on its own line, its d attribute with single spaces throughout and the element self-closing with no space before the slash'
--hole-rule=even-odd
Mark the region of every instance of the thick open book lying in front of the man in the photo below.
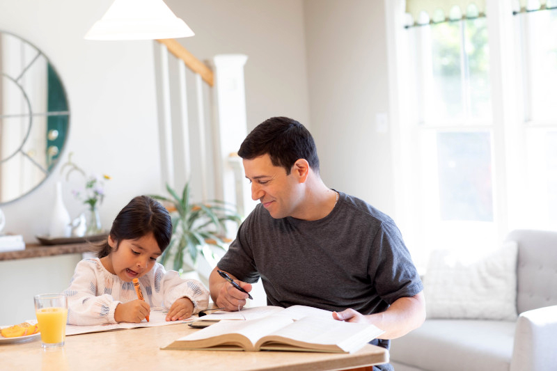
<svg viewBox="0 0 557 371">
<path fill-rule="evenodd" d="M 307 306 L 261 308 L 272 314 L 245 321 L 221 320 L 163 349 L 352 353 L 384 332 L 372 324 L 337 321 L 328 310 Z M 250 308 L 257 311 L 254 309 Z"/>
</svg>

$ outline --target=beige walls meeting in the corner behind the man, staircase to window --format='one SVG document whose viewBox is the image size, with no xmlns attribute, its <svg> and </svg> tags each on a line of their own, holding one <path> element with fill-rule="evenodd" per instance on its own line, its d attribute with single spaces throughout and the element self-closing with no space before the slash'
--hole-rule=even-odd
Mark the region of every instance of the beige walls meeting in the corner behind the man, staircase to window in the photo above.
<svg viewBox="0 0 557 371">
<path fill-rule="evenodd" d="M 248 130 L 288 116 L 315 137 L 329 187 L 394 216 L 384 0 L 166 0 L 198 58 L 242 53 Z"/>
</svg>

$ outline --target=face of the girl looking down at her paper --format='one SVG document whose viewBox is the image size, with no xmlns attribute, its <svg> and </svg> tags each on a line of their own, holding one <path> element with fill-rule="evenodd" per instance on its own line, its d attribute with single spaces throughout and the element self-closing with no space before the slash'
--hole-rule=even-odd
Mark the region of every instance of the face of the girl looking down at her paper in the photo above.
<svg viewBox="0 0 557 371">
<path fill-rule="evenodd" d="M 123 239 L 116 248 L 116 241 L 109 236 L 112 252 L 105 258 L 104 266 L 111 274 L 116 274 L 121 280 L 130 282 L 151 270 L 155 260 L 161 255 L 161 250 L 152 232 L 139 239 Z"/>
</svg>

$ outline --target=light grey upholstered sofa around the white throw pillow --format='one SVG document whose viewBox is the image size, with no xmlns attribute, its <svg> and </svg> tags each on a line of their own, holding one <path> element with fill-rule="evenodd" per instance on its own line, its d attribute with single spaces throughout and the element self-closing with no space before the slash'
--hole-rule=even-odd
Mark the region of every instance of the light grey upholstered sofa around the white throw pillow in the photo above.
<svg viewBox="0 0 557 371">
<path fill-rule="evenodd" d="M 428 318 L 392 341 L 395 371 L 557 370 L 557 232 L 515 230 L 507 241 L 518 245 L 517 320 Z"/>
</svg>

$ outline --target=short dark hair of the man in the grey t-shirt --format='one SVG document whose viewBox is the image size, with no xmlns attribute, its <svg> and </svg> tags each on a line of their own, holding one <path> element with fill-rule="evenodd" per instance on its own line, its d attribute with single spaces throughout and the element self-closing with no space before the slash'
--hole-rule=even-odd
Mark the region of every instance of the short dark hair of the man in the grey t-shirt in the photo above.
<svg viewBox="0 0 557 371">
<path fill-rule="evenodd" d="M 286 169 L 286 174 L 298 159 L 306 159 L 319 173 L 317 148 L 308 129 L 292 118 L 273 117 L 263 121 L 246 136 L 238 155 L 242 159 L 255 159 L 269 155 L 274 166 Z"/>
</svg>

